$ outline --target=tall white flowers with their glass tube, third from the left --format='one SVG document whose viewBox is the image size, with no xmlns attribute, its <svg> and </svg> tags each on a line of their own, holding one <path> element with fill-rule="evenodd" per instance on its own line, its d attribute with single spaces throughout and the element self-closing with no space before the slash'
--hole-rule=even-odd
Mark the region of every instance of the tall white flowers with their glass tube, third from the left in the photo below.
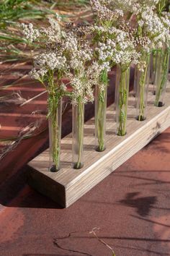
<svg viewBox="0 0 170 256">
<path fill-rule="evenodd" d="M 96 59 L 96 95 L 95 95 L 95 137 L 96 150 L 105 150 L 105 123 L 107 108 L 108 72 L 111 69 L 113 47 L 107 35 L 107 30 L 112 27 L 113 13 L 102 5 L 100 1 L 91 0 L 91 9 L 96 14 L 92 38 L 94 46 L 94 58 Z"/>
</svg>

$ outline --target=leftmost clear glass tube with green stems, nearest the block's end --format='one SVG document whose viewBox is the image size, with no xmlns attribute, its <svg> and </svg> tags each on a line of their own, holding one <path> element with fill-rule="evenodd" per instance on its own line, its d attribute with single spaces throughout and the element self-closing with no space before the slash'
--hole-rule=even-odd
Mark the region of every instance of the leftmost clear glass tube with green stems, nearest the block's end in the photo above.
<svg viewBox="0 0 170 256">
<path fill-rule="evenodd" d="M 50 163 L 49 170 L 59 171 L 61 168 L 61 116 L 62 99 L 58 102 L 50 101 L 49 140 L 50 140 Z"/>
</svg>

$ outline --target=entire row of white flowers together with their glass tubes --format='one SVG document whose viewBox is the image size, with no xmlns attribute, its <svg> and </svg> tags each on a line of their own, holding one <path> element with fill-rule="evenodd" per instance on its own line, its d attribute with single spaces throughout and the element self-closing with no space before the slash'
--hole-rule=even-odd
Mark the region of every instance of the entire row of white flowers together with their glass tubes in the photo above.
<svg viewBox="0 0 170 256">
<path fill-rule="evenodd" d="M 94 24 L 64 23 L 58 15 L 47 27 L 22 24 L 30 47 L 38 41 L 41 48 L 32 53 L 34 68 L 30 75 L 48 92 L 50 132 L 50 171 L 60 169 L 62 98 L 73 106 L 73 168 L 84 166 L 84 104 L 95 98 L 96 150 L 106 148 L 106 109 L 108 72 L 117 67 L 117 135 L 126 135 L 130 65 L 137 70 L 137 119 L 146 119 L 149 61 L 151 49 L 158 49 L 161 80 L 158 80 L 155 105 L 165 88 L 169 60 L 169 14 L 164 0 L 91 0 Z M 162 48 L 166 44 L 166 51 Z M 31 47 L 32 48 L 32 47 Z M 159 56 L 159 55 L 158 55 Z M 157 56 L 157 59 L 158 59 Z M 158 72 L 157 72 L 158 73 Z M 68 84 L 63 83 L 63 78 Z M 68 90 L 71 88 L 70 90 Z M 94 96 L 95 89 L 95 96 Z"/>
</svg>

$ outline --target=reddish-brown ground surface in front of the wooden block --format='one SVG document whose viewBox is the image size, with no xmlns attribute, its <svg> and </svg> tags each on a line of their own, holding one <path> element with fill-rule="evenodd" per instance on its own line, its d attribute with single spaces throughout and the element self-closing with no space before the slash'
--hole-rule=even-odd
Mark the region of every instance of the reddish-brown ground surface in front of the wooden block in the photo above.
<svg viewBox="0 0 170 256">
<path fill-rule="evenodd" d="M 1 256 L 170 255 L 170 128 L 68 209 L 27 186 L 0 187 Z"/>
</svg>

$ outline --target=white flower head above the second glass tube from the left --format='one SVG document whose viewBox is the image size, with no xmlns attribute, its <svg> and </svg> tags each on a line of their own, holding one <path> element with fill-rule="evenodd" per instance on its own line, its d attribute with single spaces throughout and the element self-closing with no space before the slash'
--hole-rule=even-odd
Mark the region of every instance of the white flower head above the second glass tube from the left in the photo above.
<svg viewBox="0 0 170 256">
<path fill-rule="evenodd" d="M 68 56 L 70 70 L 73 72 L 71 74 L 72 103 L 94 101 L 93 85 L 96 84 L 96 80 L 94 74 L 91 75 L 93 65 L 86 64 L 93 57 L 92 49 L 88 43 L 79 43 L 79 40 L 70 34 L 64 50 Z"/>
</svg>

